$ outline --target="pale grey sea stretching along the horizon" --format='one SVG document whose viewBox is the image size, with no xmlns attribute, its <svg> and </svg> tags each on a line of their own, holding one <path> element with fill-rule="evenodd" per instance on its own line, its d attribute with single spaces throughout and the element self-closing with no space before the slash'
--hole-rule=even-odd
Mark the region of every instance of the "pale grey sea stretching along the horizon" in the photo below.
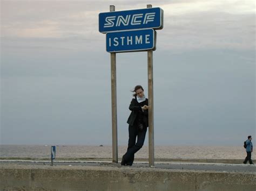
<svg viewBox="0 0 256 191">
<path fill-rule="evenodd" d="M 56 159 L 112 158 L 110 145 L 55 145 Z M 118 146 L 122 157 L 127 146 Z M 0 158 L 50 159 L 51 145 L 0 145 Z M 137 158 L 148 158 L 149 147 L 143 146 Z M 244 159 L 245 148 L 240 146 L 155 146 L 154 157 L 158 159 Z M 252 159 L 256 159 L 252 153 Z"/>
</svg>

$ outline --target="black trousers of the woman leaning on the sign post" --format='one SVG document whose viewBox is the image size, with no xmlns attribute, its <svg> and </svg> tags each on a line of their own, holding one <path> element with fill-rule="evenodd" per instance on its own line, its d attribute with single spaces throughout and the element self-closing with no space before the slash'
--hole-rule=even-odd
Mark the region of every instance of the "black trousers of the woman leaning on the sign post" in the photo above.
<svg viewBox="0 0 256 191">
<path fill-rule="evenodd" d="M 142 148 L 146 137 L 147 128 L 139 130 L 138 125 L 129 125 L 129 142 L 127 152 L 123 155 L 123 160 L 126 165 L 132 165 L 134 154 Z M 137 138 L 137 143 L 136 143 Z"/>
</svg>

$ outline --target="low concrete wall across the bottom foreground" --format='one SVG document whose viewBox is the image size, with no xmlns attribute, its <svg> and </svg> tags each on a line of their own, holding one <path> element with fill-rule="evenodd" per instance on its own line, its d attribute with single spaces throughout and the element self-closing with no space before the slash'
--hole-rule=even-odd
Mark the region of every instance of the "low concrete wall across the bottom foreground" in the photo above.
<svg viewBox="0 0 256 191">
<path fill-rule="evenodd" d="M 256 190 L 256 174 L 120 166 L 0 166 L 0 190 Z"/>
</svg>

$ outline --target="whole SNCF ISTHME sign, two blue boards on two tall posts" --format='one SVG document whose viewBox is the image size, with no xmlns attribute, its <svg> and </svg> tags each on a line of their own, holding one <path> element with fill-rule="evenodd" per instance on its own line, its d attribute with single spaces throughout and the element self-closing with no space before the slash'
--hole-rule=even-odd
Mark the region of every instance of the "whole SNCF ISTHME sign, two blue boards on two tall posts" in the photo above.
<svg viewBox="0 0 256 191">
<path fill-rule="evenodd" d="M 156 50 L 156 30 L 164 27 L 163 10 L 147 5 L 146 9 L 99 13 L 99 32 L 106 34 L 106 51 L 111 58 L 112 154 L 117 153 L 117 80 L 116 52 L 147 51 L 149 88 L 149 165 L 154 166 L 154 104 L 153 104 L 153 51 Z"/>
</svg>

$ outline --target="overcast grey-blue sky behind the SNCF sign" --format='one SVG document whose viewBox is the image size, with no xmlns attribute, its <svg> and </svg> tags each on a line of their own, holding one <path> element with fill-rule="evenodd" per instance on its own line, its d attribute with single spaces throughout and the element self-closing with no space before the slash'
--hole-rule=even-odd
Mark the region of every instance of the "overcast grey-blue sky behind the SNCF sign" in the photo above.
<svg viewBox="0 0 256 191">
<path fill-rule="evenodd" d="M 253 0 L 1 0 L 0 143 L 111 145 L 110 54 L 98 14 L 146 4 L 164 10 L 153 52 L 155 145 L 255 137 Z M 146 52 L 118 53 L 119 145 L 137 84 L 147 96 Z"/>
</svg>

